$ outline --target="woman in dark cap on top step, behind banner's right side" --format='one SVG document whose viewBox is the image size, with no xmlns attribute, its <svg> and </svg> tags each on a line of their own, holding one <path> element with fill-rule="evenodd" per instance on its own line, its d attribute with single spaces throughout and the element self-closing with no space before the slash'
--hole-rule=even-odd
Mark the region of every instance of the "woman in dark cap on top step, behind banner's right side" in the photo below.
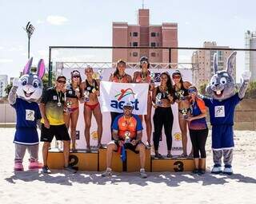
<svg viewBox="0 0 256 204">
<path fill-rule="evenodd" d="M 150 77 L 150 63 L 147 57 L 142 57 L 140 59 L 140 72 L 134 73 L 134 83 L 146 83 L 150 84 L 148 98 L 147 98 L 147 113 L 144 116 L 145 124 L 146 124 L 146 136 L 147 142 L 146 147 L 150 147 L 150 139 L 151 139 L 151 132 L 152 132 L 152 124 L 151 124 L 151 108 L 152 108 L 152 100 L 151 100 L 151 92 L 154 90 L 154 84 L 152 82 L 152 78 Z M 139 116 L 142 120 L 142 116 Z"/>
</svg>

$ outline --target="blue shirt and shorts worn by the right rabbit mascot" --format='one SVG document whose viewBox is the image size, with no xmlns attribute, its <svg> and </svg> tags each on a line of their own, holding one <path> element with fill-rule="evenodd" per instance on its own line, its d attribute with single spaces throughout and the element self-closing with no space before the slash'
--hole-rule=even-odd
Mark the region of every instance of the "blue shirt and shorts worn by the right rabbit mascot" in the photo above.
<svg viewBox="0 0 256 204">
<path fill-rule="evenodd" d="M 238 93 L 226 100 L 215 100 L 204 97 L 210 112 L 212 128 L 212 148 L 214 150 L 234 147 L 233 125 L 234 108 L 241 100 Z"/>
</svg>

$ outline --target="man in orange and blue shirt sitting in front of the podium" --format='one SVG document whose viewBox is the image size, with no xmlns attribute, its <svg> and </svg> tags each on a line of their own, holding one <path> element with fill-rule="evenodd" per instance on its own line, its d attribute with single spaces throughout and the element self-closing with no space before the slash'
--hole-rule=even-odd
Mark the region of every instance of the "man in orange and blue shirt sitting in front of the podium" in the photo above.
<svg viewBox="0 0 256 204">
<path fill-rule="evenodd" d="M 145 172 L 145 156 L 146 147 L 142 143 L 142 121 L 138 116 L 133 115 L 133 105 L 130 102 L 126 102 L 123 105 L 123 114 L 115 118 L 112 125 L 112 136 L 114 140 L 108 143 L 106 148 L 106 171 L 102 173 L 102 177 L 111 176 L 112 170 L 111 159 L 113 151 L 118 151 L 118 148 L 125 147 L 134 151 L 136 154 L 139 153 L 140 158 L 140 177 L 146 179 L 147 175 Z"/>
</svg>

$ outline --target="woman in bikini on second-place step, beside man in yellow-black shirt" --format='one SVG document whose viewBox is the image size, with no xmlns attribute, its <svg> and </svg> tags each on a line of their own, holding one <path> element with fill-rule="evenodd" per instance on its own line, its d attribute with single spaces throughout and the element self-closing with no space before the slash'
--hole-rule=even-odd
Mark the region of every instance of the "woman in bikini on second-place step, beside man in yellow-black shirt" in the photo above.
<svg viewBox="0 0 256 204">
<path fill-rule="evenodd" d="M 78 70 L 71 73 L 71 82 L 66 85 L 65 93 L 65 107 L 64 107 L 64 120 L 66 128 L 70 128 L 71 135 L 71 151 L 75 151 L 76 128 L 79 116 L 79 99 L 80 99 L 80 85 L 82 78 Z"/>
</svg>

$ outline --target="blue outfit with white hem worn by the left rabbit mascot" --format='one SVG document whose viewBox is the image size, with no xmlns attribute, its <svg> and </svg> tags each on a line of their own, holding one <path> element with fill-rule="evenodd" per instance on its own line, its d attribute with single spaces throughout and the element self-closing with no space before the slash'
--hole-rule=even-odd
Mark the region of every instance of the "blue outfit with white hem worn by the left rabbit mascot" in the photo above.
<svg viewBox="0 0 256 204">
<path fill-rule="evenodd" d="M 14 143 L 38 144 L 37 120 L 42 118 L 38 104 L 17 98 L 16 103 L 11 106 L 17 113 Z"/>
</svg>

